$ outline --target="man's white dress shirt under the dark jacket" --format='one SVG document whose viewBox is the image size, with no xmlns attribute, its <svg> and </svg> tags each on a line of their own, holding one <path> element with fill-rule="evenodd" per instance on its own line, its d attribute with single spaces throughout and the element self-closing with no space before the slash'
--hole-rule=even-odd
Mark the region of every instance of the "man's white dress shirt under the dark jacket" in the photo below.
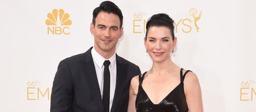
<svg viewBox="0 0 256 112">
<path fill-rule="evenodd" d="M 110 93 L 109 93 L 109 111 L 111 111 L 112 103 L 113 103 L 113 98 L 114 98 L 114 92 L 115 92 L 115 82 L 117 80 L 117 60 L 114 55 L 109 58 L 105 59 L 103 58 L 99 53 L 95 51 L 95 48 L 92 48 L 92 57 L 93 57 L 93 63 L 95 66 L 96 74 L 97 74 L 97 80 L 99 82 L 100 86 L 100 94 L 101 94 L 101 99 L 103 95 L 103 72 L 104 72 L 104 61 L 109 60 L 110 65 L 108 66 L 109 72 L 110 72 Z"/>
</svg>

